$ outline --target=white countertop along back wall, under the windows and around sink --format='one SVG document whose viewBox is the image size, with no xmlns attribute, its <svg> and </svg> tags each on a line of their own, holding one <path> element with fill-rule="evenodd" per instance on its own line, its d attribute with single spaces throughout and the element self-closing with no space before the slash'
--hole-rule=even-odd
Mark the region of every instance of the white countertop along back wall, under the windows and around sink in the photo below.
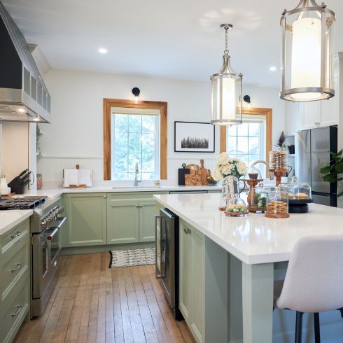
<svg viewBox="0 0 343 343">
<path fill-rule="evenodd" d="M 64 193 L 132 193 L 132 192 L 169 192 L 169 191 L 196 191 L 221 190 L 221 186 L 160 186 L 160 187 L 120 187 L 120 186 L 93 186 L 87 188 L 43 188 L 29 190 L 25 195 L 45 195 L 50 198 L 60 197 Z"/>
</svg>

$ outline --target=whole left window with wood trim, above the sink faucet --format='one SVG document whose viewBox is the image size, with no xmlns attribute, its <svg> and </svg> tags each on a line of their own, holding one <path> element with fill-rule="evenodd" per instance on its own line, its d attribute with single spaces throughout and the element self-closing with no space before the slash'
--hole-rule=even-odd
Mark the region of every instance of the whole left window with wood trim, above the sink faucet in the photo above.
<svg viewBox="0 0 343 343">
<path fill-rule="evenodd" d="M 104 179 L 167 179 L 167 103 L 104 99 Z"/>
</svg>

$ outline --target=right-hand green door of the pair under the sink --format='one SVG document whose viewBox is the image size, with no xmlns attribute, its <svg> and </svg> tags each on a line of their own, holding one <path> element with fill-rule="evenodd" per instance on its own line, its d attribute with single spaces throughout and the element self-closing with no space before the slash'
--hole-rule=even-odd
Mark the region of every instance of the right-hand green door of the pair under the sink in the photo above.
<svg viewBox="0 0 343 343">
<path fill-rule="evenodd" d="M 155 200 L 139 202 L 139 241 L 155 241 Z"/>
</svg>

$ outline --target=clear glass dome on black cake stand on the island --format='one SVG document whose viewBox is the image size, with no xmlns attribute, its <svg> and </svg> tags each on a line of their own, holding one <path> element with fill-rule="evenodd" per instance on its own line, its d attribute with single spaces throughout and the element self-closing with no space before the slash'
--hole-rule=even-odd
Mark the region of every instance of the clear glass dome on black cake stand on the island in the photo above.
<svg viewBox="0 0 343 343">
<path fill-rule="evenodd" d="M 282 183 L 280 190 L 288 193 L 289 212 L 304 214 L 309 211 L 309 203 L 313 202 L 311 186 L 308 183 L 297 182 L 293 176 L 292 182 Z"/>
</svg>

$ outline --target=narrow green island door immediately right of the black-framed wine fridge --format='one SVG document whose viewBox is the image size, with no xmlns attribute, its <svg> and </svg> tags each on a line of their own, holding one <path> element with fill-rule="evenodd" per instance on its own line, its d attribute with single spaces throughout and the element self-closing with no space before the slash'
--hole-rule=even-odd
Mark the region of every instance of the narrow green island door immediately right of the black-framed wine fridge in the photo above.
<svg viewBox="0 0 343 343">
<path fill-rule="evenodd" d="M 188 322 L 190 320 L 190 281 L 191 281 L 191 250 L 190 228 L 180 222 L 179 228 L 179 309 Z"/>
</svg>

